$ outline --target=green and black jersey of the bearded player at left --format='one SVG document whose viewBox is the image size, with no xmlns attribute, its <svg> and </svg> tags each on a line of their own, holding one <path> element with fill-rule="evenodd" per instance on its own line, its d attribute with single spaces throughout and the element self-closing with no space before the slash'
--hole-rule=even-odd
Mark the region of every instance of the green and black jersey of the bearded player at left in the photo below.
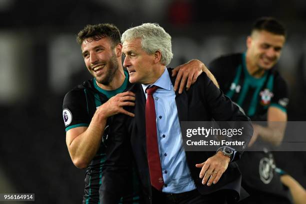
<svg viewBox="0 0 306 204">
<path fill-rule="evenodd" d="M 88 127 L 97 107 L 105 103 L 112 96 L 127 90 L 130 86 L 128 83 L 128 73 L 124 71 L 124 74 L 125 80 L 123 84 L 113 91 L 101 89 L 96 85 L 95 79 L 84 81 L 69 91 L 64 97 L 62 106 L 65 131 L 75 127 Z M 112 124 L 111 121 L 112 117 L 109 117 L 104 134 L 101 135 L 102 142 L 100 147 L 86 169 L 83 204 L 99 204 L 101 177 L 106 166 L 111 166 L 114 162 L 117 162 L 114 161 L 116 158 L 125 158 L 132 164 L 132 155 L 128 149 L 126 150 L 128 153 L 126 153 L 125 157 L 118 157 L 115 155 L 116 152 L 114 150 L 110 150 L 110 148 L 122 148 L 122 146 L 115 147 L 117 143 L 108 145 L 113 142 L 109 137 L 111 137 L 111 130 L 115 129 L 115 124 Z M 133 189 L 133 184 L 130 185 L 129 190 Z M 132 198 L 132 196 L 129 195 L 129 198 Z M 136 196 L 134 196 L 133 200 L 137 203 Z"/>
</svg>

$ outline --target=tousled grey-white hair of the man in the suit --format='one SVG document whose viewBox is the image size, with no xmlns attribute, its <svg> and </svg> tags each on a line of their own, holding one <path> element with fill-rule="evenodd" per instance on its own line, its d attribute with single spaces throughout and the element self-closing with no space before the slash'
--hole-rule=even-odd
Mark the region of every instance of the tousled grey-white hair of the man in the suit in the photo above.
<svg viewBox="0 0 306 204">
<path fill-rule="evenodd" d="M 141 48 L 148 54 L 159 50 L 161 52 L 160 62 L 168 65 L 173 58 L 171 36 L 157 23 L 143 23 L 142 25 L 125 30 L 121 42 L 141 39 Z"/>
</svg>

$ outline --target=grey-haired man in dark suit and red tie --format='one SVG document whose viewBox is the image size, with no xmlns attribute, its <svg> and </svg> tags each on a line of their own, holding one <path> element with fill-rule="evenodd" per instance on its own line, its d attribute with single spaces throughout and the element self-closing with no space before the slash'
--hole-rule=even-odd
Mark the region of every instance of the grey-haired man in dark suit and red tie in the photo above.
<svg viewBox="0 0 306 204">
<path fill-rule="evenodd" d="M 216 153 L 186 152 L 179 122 L 248 118 L 206 74 L 200 75 L 188 92 L 174 92 L 174 78 L 165 67 L 173 56 L 171 37 L 159 25 L 130 28 L 121 41 L 123 66 L 129 81 L 136 83 L 131 88 L 136 95 L 135 107 L 127 107 L 135 117 L 115 117 L 112 139 L 123 141 L 126 132 L 130 136 L 145 203 L 226 204 L 237 200 L 241 176 L 233 161 L 241 152 L 229 147 Z M 250 122 L 244 129 L 248 130 L 247 142 L 252 135 Z"/>
</svg>

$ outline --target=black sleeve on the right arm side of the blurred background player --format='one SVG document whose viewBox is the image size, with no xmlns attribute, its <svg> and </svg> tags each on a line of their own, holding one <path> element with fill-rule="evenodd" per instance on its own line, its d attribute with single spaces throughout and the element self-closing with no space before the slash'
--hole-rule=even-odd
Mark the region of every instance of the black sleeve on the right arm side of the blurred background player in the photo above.
<svg viewBox="0 0 306 204">
<path fill-rule="evenodd" d="M 276 107 L 286 112 L 287 105 L 289 103 L 288 99 L 288 88 L 286 82 L 279 75 L 274 79 L 274 88 L 273 94 L 274 96 L 271 99 L 270 107 Z"/>
</svg>

